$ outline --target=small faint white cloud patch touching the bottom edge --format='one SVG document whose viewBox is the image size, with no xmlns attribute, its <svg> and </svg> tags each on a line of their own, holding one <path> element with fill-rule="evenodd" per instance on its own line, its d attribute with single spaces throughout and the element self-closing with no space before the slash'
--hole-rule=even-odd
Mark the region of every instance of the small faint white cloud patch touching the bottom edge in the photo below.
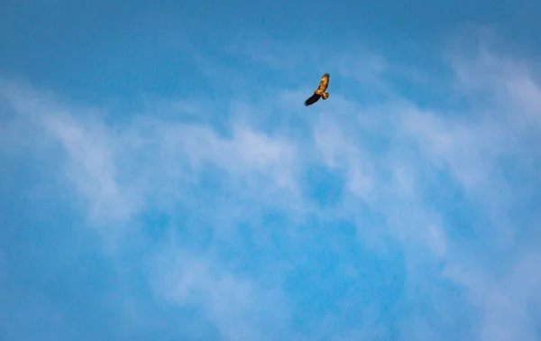
<svg viewBox="0 0 541 341">
<path fill-rule="evenodd" d="M 170 304 L 204 309 L 225 340 L 271 340 L 287 327 L 280 290 L 233 274 L 209 253 L 166 247 L 157 254 L 155 269 L 157 295 Z"/>
</svg>

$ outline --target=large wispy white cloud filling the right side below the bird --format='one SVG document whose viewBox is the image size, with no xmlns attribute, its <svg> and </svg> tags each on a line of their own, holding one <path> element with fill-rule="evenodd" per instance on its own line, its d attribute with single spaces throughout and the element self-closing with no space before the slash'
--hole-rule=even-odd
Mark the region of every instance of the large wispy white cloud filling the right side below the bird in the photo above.
<svg viewBox="0 0 541 341">
<path fill-rule="evenodd" d="M 314 124 L 317 147 L 329 167 L 344 169 L 353 194 L 385 214 L 389 234 L 404 247 L 412 251 L 430 250 L 436 259 L 448 264 L 446 267 L 464 266 L 470 268 L 469 273 L 481 273 L 478 280 L 481 284 L 463 281 L 460 275 L 450 277 L 472 292 L 474 307 L 477 305 L 473 302 L 483 301 L 478 310 L 485 321 L 479 329 L 480 339 L 516 339 L 518 336 L 534 339 L 536 327 L 531 322 L 532 310 L 527 307 L 539 301 L 539 295 L 534 293 L 539 289 L 536 272 L 521 272 L 520 277 L 509 275 L 509 278 L 519 278 L 512 281 L 512 285 L 509 281 L 491 280 L 496 264 L 491 264 L 491 269 L 475 268 L 476 259 L 491 263 L 486 259 L 489 255 L 481 250 L 470 250 L 469 259 L 457 259 L 460 253 L 457 245 L 461 241 L 450 239 L 445 232 L 457 226 L 445 222 L 446 212 L 427 206 L 429 202 L 421 195 L 421 189 L 425 180 L 438 172 L 450 171 L 472 204 L 482 208 L 481 214 L 490 219 L 488 226 L 473 226 L 480 238 L 478 245 L 491 245 L 486 250 L 490 253 L 517 255 L 517 260 L 501 265 L 510 272 L 516 267 L 523 268 L 520 261 L 523 251 L 517 248 L 515 238 L 521 226 L 512 217 L 518 188 L 504 175 L 502 162 L 512 157 L 511 160 L 518 160 L 518 167 L 525 167 L 522 171 L 532 171 L 527 164 L 535 151 L 525 136 L 540 133 L 536 124 L 540 107 L 537 95 L 541 91 L 524 65 L 488 51 L 481 51 L 479 59 L 455 63 L 454 69 L 464 88 L 485 92 L 484 100 L 476 103 L 471 111 L 454 116 L 439 110 L 421 110 L 408 101 L 399 100 L 394 106 L 370 110 L 371 115 L 379 116 L 380 126 L 370 121 L 359 123 L 369 110 L 359 121 L 355 119 L 358 111 L 350 114 L 341 111 L 339 118 L 324 116 L 323 123 Z M 468 94 L 472 101 L 477 95 L 477 92 Z M 371 131 L 365 132 L 367 126 Z M 362 136 L 371 135 L 374 130 L 380 137 L 388 138 L 389 143 L 378 152 L 370 151 L 371 140 Z M 523 200 L 527 202 L 527 198 Z M 373 227 L 359 225 L 359 233 L 369 243 L 384 236 L 376 233 L 374 237 L 367 228 Z M 381 247 L 381 244 L 376 245 Z M 424 254 L 410 253 L 420 258 L 409 262 L 430 262 Z M 529 296 L 518 300 L 518 293 L 524 290 Z"/>
</svg>

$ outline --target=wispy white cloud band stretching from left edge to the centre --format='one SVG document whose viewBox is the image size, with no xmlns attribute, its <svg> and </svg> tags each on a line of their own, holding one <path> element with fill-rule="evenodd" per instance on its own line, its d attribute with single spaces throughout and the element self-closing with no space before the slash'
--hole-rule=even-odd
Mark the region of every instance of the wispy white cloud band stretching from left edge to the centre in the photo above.
<svg viewBox="0 0 541 341">
<path fill-rule="evenodd" d="M 178 179 L 197 180 L 209 165 L 248 185 L 264 176 L 271 179 L 262 180 L 266 188 L 296 190 L 294 146 L 245 124 L 233 123 L 229 137 L 208 124 L 146 116 L 114 129 L 105 124 L 103 113 L 61 104 L 31 88 L 4 83 L 3 93 L 19 122 L 35 122 L 17 124 L 14 134 L 27 134 L 32 141 L 35 132 L 44 130 L 49 141 L 60 142 L 67 155 L 66 176 L 87 198 L 97 220 L 126 221 L 142 209 L 146 196 L 160 194 L 151 191 L 165 190 Z M 191 103 L 189 110 L 197 107 Z"/>
</svg>

